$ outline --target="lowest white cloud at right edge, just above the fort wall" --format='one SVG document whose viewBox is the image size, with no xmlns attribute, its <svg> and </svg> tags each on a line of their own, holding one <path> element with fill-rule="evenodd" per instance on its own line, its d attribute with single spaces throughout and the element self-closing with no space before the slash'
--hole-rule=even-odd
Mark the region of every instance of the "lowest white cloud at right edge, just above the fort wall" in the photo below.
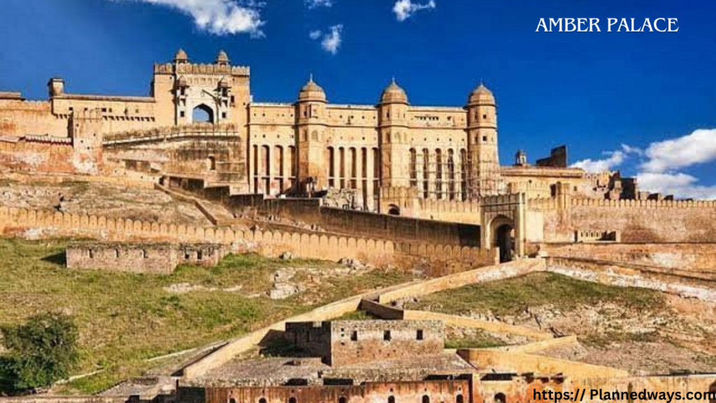
<svg viewBox="0 0 716 403">
<path fill-rule="evenodd" d="M 675 194 L 680 198 L 716 199 L 716 186 L 702 186 L 695 176 L 677 172 L 661 174 L 642 172 L 637 174 L 639 189 L 661 194 Z"/>
</svg>

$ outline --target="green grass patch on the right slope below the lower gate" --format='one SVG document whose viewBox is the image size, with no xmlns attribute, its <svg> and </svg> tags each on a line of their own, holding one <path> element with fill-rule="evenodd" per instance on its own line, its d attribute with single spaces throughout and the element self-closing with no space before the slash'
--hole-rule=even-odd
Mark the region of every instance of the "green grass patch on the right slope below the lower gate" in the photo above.
<svg viewBox="0 0 716 403">
<path fill-rule="evenodd" d="M 453 315 L 492 313 L 516 315 L 527 307 L 551 304 L 558 310 L 600 302 L 619 303 L 630 308 L 665 308 L 664 295 L 642 288 L 621 288 L 575 280 L 554 273 L 533 273 L 520 278 L 467 285 L 420 298 L 408 309 L 435 310 Z"/>
</svg>

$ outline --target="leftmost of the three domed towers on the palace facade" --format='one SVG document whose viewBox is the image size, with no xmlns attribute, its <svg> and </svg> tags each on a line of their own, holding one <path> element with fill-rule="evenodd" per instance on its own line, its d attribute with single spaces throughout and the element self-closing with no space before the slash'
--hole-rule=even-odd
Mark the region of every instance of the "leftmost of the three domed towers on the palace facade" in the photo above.
<svg viewBox="0 0 716 403">
<path fill-rule="evenodd" d="M 313 76 L 299 91 L 296 102 L 296 149 L 298 150 L 298 186 L 301 194 L 311 195 L 328 186 L 324 141 L 326 136 L 326 93 Z"/>
</svg>

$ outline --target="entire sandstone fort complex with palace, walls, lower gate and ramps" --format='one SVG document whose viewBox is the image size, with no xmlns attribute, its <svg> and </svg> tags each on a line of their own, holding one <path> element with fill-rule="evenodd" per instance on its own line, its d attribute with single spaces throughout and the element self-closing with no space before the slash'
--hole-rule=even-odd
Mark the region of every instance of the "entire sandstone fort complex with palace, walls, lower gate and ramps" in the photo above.
<svg viewBox="0 0 716 403">
<path fill-rule="evenodd" d="M 543 351 L 574 347 L 577 337 L 409 306 L 556 273 L 716 312 L 716 201 L 651 194 L 619 171 L 571 168 L 566 146 L 529 159 L 519 144 L 500 144 L 499 94 L 483 83 L 446 89 L 465 94 L 455 106 L 414 105 L 397 80 L 365 83 L 377 86 L 371 105 L 329 103 L 319 77 L 300 84 L 294 99 L 267 102 L 254 95 L 261 89 L 251 87 L 249 67 L 226 52 L 196 63 L 179 50 L 154 65 L 148 96 L 72 93 L 60 77 L 47 82 L 47 100 L 0 92 L 0 171 L 30 186 L 21 196 L 7 191 L 0 232 L 72 239 L 63 270 L 170 276 L 179 265 L 211 270 L 231 253 L 254 252 L 340 261 L 349 275 L 364 267 L 430 275 L 314 303 L 102 394 L 11 401 L 513 403 L 580 388 L 716 392 L 714 371 L 637 374 L 549 356 Z M 514 161 L 500 161 L 498 145 L 515 151 Z M 199 218 L 78 212 L 67 194 L 42 193 L 48 183 L 116 186 L 110 199 L 155 191 Z M 29 204 L 35 196 L 59 207 Z M 274 275 L 271 298 L 301 292 L 284 280 L 294 274 Z M 445 349 L 455 329 L 520 342 Z M 276 346 L 289 352 L 246 359 Z M 716 355 L 713 345 L 702 351 Z"/>
</svg>

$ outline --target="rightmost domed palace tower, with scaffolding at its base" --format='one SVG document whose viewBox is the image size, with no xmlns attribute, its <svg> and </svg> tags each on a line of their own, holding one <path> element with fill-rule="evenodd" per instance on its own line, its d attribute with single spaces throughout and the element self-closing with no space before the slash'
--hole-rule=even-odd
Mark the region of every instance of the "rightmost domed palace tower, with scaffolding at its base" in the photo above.
<svg viewBox="0 0 716 403">
<path fill-rule="evenodd" d="M 482 83 L 468 98 L 468 195 L 470 199 L 505 192 L 498 155 L 497 104 Z"/>
</svg>

